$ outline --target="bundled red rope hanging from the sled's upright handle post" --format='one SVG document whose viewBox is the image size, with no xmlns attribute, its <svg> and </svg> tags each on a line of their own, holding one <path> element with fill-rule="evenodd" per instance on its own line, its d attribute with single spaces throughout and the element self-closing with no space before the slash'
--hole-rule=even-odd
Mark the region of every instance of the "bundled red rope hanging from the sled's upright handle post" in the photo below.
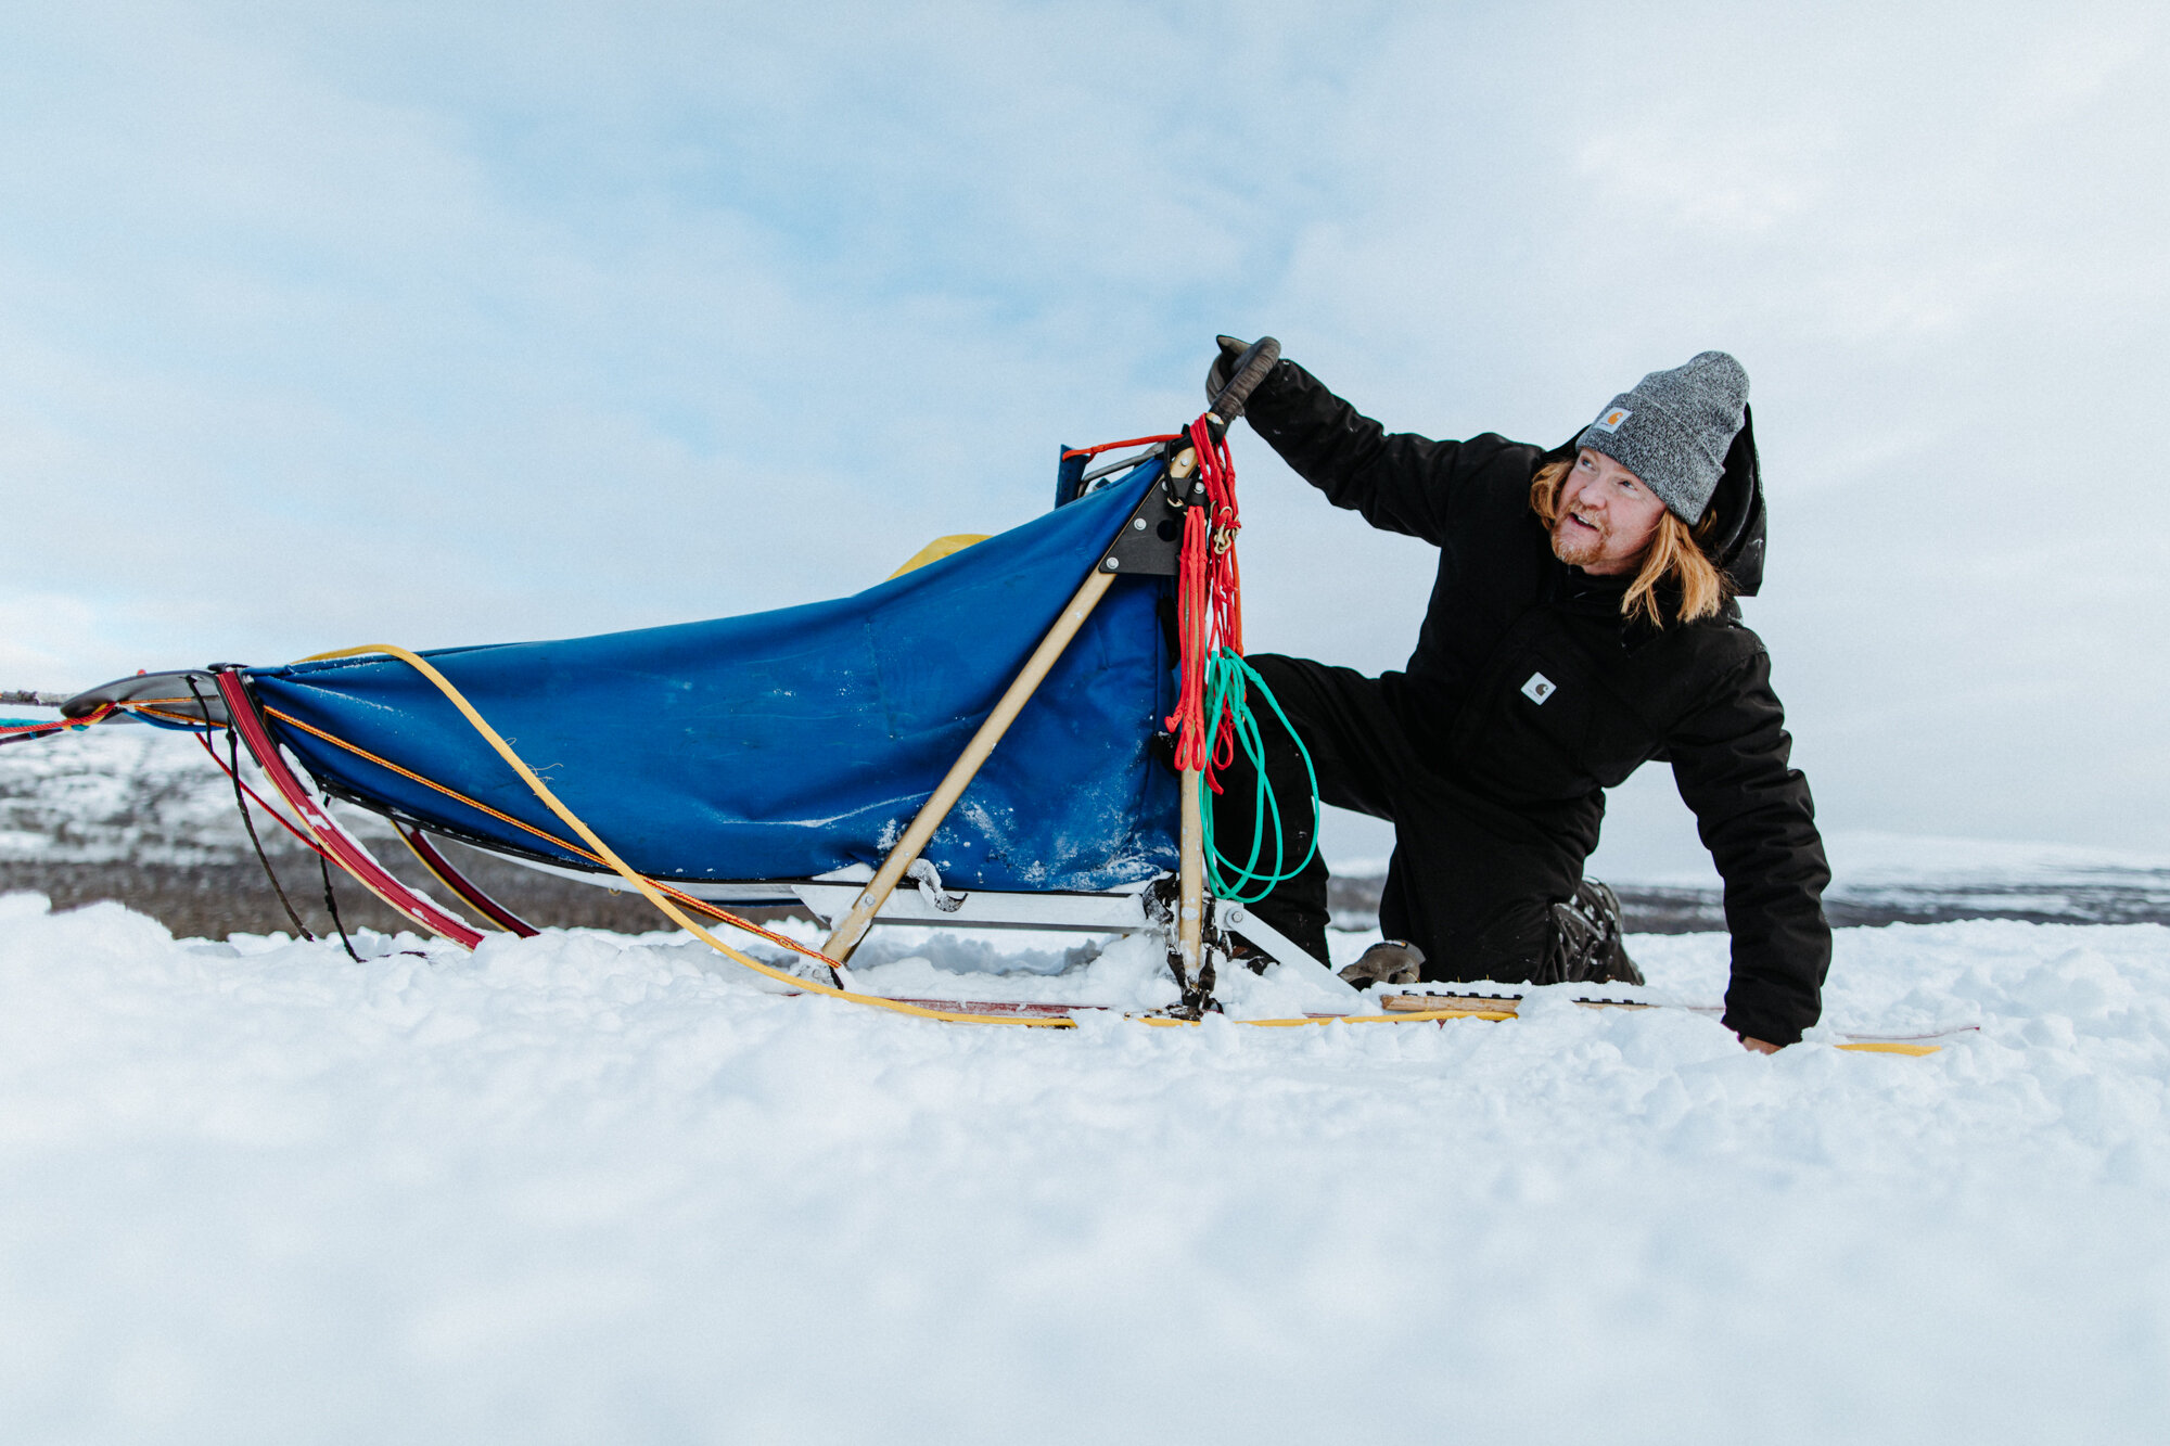
<svg viewBox="0 0 2170 1446">
<path fill-rule="evenodd" d="M 1243 654 L 1243 584 L 1235 562 L 1235 534 L 1243 519 L 1235 506 L 1235 460 L 1228 441 L 1213 439 L 1207 419 L 1191 423 L 1198 452 L 1198 497 L 1183 517 L 1183 558 L 1176 571 L 1176 647 L 1183 684 L 1167 727 L 1176 732 L 1176 769 L 1198 769 L 1220 792 L 1220 771 L 1235 762 L 1235 721 L 1222 706 L 1207 719 L 1207 660 L 1226 649 Z M 1194 493 L 1196 497 L 1196 493 Z"/>
</svg>

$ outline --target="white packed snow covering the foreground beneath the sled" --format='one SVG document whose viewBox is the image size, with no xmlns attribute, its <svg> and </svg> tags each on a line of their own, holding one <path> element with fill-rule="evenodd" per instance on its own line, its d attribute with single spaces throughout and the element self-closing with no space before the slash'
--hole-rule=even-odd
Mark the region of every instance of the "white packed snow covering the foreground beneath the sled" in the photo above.
<svg viewBox="0 0 2170 1446">
<path fill-rule="evenodd" d="M 9 1439 L 2170 1420 L 2170 929 L 1842 931 L 1831 1027 L 1979 1023 L 1920 1060 L 1558 990 L 1512 1023 L 1055 1031 L 786 997 L 668 936 L 362 951 L 0 903 Z M 905 936 L 859 981 L 1148 990 L 1087 953 Z M 1636 953 L 1723 990 L 1721 936 Z"/>
</svg>

